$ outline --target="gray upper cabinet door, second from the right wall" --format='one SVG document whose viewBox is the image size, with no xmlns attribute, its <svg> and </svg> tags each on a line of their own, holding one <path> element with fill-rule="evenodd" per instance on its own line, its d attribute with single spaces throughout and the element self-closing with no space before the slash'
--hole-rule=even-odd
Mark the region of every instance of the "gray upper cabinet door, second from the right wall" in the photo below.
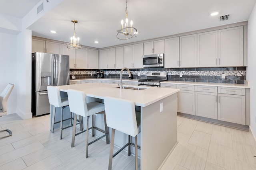
<svg viewBox="0 0 256 170">
<path fill-rule="evenodd" d="M 197 66 L 218 66 L 218 31 L 197 34 Z"/>
</svg>

